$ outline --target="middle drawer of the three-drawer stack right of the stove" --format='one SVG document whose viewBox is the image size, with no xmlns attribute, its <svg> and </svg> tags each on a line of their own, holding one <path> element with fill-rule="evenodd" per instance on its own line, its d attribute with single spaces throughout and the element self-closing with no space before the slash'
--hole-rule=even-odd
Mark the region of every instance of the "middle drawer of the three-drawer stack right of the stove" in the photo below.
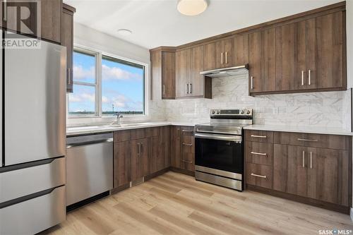
<svg viewBox="0 0 353 235">
<path fill-rule="evenodd" d="M 246 141 L 245 156 L 246 162 L 272 166 L 273 144 Z"/>
</svg>

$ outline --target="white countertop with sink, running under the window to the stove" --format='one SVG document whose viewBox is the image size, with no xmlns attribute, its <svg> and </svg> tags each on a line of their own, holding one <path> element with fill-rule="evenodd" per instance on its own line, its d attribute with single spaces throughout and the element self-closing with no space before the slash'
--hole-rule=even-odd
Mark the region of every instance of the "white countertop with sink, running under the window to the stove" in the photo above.
<svg viewBox="0 0 353 235">
<path fill-rule="evenodd" d="M 110 126 L 110 125 L 92 125 L 92 126 L 75 126 L 66 128 L 66 135 L 82 135 L 89 133 L 100 133 L 108 131 L 122 131 L 131 130 L 137 128 L 148 128 L 156 126 L 195 126 L 196 123 L 186 123 L 177 121 L 150 121 L 141 123 L 123 123 L 122 126 Z"/>
</svg>

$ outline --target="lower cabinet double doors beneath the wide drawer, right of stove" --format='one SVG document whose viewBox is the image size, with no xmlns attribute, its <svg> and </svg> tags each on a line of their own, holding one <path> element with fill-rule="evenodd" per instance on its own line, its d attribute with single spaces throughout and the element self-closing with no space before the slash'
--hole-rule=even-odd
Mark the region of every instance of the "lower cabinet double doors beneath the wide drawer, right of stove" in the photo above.
<svg viewBox="0 0 353 235">
<path fill-rule="evenodd" d="M 347 150 L 274 145 L 273 189 L 349 205 Z"/>
</svg>

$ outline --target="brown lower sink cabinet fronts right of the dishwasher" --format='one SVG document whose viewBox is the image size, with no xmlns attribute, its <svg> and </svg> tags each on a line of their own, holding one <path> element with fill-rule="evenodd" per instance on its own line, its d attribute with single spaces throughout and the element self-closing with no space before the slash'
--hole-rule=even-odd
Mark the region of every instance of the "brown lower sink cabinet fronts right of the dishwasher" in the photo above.
<svg viewBox="0 0 353 235">
<path fill-rule="evenodd" d="M 114 188 L 170 167 L 170 127 L 114 132 Z"/>
</svg>

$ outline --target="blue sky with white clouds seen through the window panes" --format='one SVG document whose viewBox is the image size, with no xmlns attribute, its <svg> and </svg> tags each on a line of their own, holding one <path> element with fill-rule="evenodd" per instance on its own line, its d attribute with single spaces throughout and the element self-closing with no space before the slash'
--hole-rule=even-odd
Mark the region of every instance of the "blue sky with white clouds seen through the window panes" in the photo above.
<svg viewBox="0 0 353 235">
<path fill-rule="evenodd" d="M 73 79 L 95 83 L 95 57 L 73 53 Z M 94 112 L 95 89 L 74 85 L 69 112 Z M 143 111 L 143 69 L 102 59 L 102 112 Z"/>
</svg>

